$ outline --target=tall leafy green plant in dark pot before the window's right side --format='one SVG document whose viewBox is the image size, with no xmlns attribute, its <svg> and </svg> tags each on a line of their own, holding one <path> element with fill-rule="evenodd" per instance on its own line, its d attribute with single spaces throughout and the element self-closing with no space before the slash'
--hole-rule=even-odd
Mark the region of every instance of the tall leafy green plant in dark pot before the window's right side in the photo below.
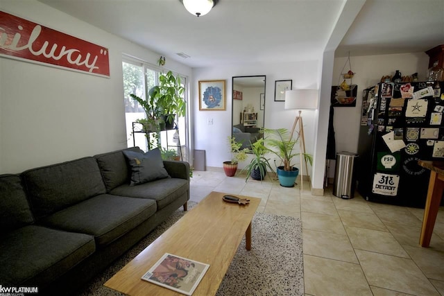
<svg viewBox="0 0 444 296">
<path fill-rule="evenodd" d="M 185 116 L 185 99 L 180 76 L 174 76 L 172 71 L 162 73 L 159 76 L 159 85 L 150 90 L 150 101 L 155 103 L 158 110 L 164 116 L 167 129 L 174 128 L 174 118 Z"/>
</svg>

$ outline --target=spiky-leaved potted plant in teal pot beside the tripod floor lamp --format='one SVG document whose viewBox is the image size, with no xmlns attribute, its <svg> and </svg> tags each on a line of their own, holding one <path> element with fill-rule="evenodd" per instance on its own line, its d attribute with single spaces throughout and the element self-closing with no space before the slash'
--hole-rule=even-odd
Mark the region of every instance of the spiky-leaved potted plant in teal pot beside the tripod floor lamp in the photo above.
<svg viewBox="0 0 444 296">
<path fill-rule="evenodd" d="M 284 164 L 278 166 L 277 173 L 281 186 L 293 187 L 298 177 L 299 169 L 293 166 L 292 159 L 300 153 L 293 151 L 294 146 L 298 143 L 299 134 L 296 139 L 291 137 L 289 130 L 286 128 L 278 128 L 277 130 L 264 129 L 265 146 L 266 149 L 279 157 L 280 161 Z M 306 162 L 311 165 L 313 157 L 308 153 L 302 153 Z"/>
</svg>

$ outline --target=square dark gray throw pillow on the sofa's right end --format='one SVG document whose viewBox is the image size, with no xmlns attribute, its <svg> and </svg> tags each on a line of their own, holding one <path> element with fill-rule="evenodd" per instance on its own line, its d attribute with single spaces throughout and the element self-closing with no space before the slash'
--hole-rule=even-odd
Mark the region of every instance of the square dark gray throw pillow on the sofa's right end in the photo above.
<svg viewBox="0 0 444 296">
<path fill-rule="evenodd" d="M 146 153 L 123 151 L 123 155 L 131 168 L 131 186 L 169 177 L 159 148 Z"/>
</svg>

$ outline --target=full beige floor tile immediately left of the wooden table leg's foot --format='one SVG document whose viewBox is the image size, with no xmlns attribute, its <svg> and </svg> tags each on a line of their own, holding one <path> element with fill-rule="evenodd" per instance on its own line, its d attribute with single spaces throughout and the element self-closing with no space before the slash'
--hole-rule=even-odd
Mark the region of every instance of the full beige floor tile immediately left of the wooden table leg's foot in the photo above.
<svg viewBox="0 0 444 296">
<path fill-rule="evenodd" d="M 410 258 L 390 232 L 345 226 L 345 231 L 355 249 Z"/>
</svg>

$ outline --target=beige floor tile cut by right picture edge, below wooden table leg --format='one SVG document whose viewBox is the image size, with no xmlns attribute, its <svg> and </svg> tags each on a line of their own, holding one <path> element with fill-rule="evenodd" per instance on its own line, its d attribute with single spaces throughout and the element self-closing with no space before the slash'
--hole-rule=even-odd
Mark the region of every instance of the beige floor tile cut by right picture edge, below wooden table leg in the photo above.
<svg viewBox="0 0 444 296">
<path fill-rule="evenodd" d="M 429 247 L 411 247 L 404 245 L 405 250 L 416 265 L 429 279 L 444 281 L 444 250 L 433 250 Z"/>
</svg>

